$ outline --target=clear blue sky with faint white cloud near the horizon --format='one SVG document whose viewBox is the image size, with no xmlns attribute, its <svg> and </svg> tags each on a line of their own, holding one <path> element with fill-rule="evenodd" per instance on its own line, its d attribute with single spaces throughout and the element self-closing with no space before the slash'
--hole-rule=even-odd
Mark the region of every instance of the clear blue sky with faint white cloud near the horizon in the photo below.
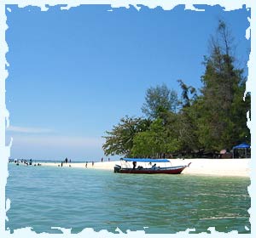
<svg viewBox="0 0 256 238">
<path fill-rule="evenodd" d="M 41 12 L 6 10 L 6 105 L 11 158 L 99 161 L 106 131 L 121 117 L 143 116 L 146 90 L 177 79 L 201 88 L 203 56 L 218 20 L 230 27 L 237 65 L 246 67 L 250 11 L 180 5 L 165 11 L 84 5 Z M 117 156 L 108 156 L 111 159 Z"/>
</svg>

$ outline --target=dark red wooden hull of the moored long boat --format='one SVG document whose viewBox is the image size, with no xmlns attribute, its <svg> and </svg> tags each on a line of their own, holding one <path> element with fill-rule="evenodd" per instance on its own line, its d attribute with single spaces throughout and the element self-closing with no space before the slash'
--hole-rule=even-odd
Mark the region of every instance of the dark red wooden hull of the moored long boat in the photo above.
<svg viewBox="0 0 256 238">
<path fill-rule="evenodd" d="M 151 168 L 122 168 L 119 166 L 115 166 L 113 169 L 114 173 L 146 173 L 146 174 L 155 174 L 155 173 L 166 173 L 166 174 L 179 174 L 182 173 L 183 170 L 187 166 L 177 166 L 177 167 L 161 167 L 158 169 Z"/>
</svg>

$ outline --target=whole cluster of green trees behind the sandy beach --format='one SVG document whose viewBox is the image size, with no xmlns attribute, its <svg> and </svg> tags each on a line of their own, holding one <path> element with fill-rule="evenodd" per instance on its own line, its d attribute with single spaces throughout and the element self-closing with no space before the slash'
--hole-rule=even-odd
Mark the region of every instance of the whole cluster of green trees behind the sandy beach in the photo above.
<svg viewBox="0 0 256 238">
<path fill-rule="evenodd" d="M 166 84 L 148 88 L 142 107 L 145 117 L 125 116 L 103 136 L 106 156 L 215 156 L 241 142 L 250 143 L 251 96 L 244 98 L 247 78 L 236 67 L 224 21 L 219 21 L 209 48 L 202 87 L 196 90 L 179 79 L 180 98 Z"/>
</svg>

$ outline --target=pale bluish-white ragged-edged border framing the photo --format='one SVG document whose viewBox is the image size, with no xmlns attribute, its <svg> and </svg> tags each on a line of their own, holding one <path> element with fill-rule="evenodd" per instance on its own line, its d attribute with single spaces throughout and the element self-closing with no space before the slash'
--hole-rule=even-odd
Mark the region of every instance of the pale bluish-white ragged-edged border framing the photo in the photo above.
<svg viewBox="0 0 256 238">
<path fill-rule="evenodd" d="M 254 3 L 253 3 L 254 2 Z M 184 4 L 185 9 L 197 10 L 194 4 L 203 4 L 203 5 L 220 5 L 225 8 L 225 10 L 233 10 L 237 8 L 241 8 L 242 5 L 246 5 L 247 8 L 251 8 L 251 19 L 250 19 L 250 29 L 249 33 L 251 36 L 251 54 L 249 57 L 248 65 L 248 77 L 247 77 L 247 92 L 252 92 L 253 87 L 256 88 L 256 5 L 254 0 L 1 0 L 0 2 L 0 158 L 1 158 L 1 167 L 0 167 L 0 235 L 1 237 L 170 237 L 170 236 L 180 236 L 186 237 L 189 235 L 189 229 L 184 232 L 178 232 L 177 234 L 171 235 L 157 235 L 157 234 L 145 234 L 143 230 L 132 232 L 127 230 L 127 234 L 122 233 L 119 230 L 119 234 L 113 234 L 108 232 L 107 230 L 101 230 L 100 232 L 94 232 L 93 229 L 84 229 L 79 234 L 71 234 L 70 229 L 61 229 L 63 234 L 55 235 L 55 234 L 36 234 L 31 230 L 31 228 L 24 228 L 24 229 L 15 229 L 14 234 L 10 234 L 9 230 L 5 230 L 5 220 L 6 220 L 6 212 L 9 209 L 9 200 L 5 201 L 5 186 L 7 183 L 8 178 L 8 160 L 10 156 L 10 147 L 11 142 L 9 145 L 6 146 L 5 144 L 5 129 L 9 127 L 9 111 L 6 109 L 5 105 L 5 80 L 8 77 L 8 71 L 5 69 L 5 65 L 8 65 L 8 62 L 5 58 L 5 55 L 8 52 L 8 44 L 5 41 L 5 31 L 8 29 L 7 26 L 7 16 L 5 14 L 6 5 L 17 4 L 20 8 L 24 8 L 28 5 L 31 6 L 38 6 L 41 8 L 42 11 L 48 10 L 45 5 L 55 6 L 59 4 L 67 4 L 67 7 L 61 7 L 61 9 L 69 9 L 72 7 L 77 7 L 82 4 L 111 4 L 112 8 L 119 8 L 125 7 L 129 8 L 129 5 L 133 5 L 135 8 L 139 10 L 138 4 L 148 6 L 148 8 L 156 8 L 157 6 L 161 6 L 165 10 L 170 10 L 177 6 L 178 4 Z M 249 20 L 249 19 L 248 19 Z M 248 33 L 247 32 L 247 33 Z M 254 78 L 254 81 L 253 81 Z M 232 231 L 230 233 L 219 233 L 216 232 L 214 228 L 210 228 L 211 234 L 196 234 L 196 237 L 205 237 L 205 236 L 212 236 L 212 237 L 256 237 L 256 218 L 255 212 L 253 214 L 252 211 L 256 211 L 255 206 L 255 191 L 256 191 L 256 184 L 255 184 L 255 177 L 256 177 L 256 151 L 255 151 L 255 127 L 253 128 L 253 122 L 255 123 L 255 95 L 251 94 L 252 99 L 252 111 L 251 111 L 251 121 L 247 116 L 247 126 L 251 130 L 252 135 L 252 161 L 251 161 L 251 185 L 248 188 L 249 195 L 251 196 L 251 208 L 249 212 L 251 213 L 251 234 L 242 234 L 238 235 L 237 231 Z M 253 194 L 254 191 L 254 194 Z M 253 208 L 254 207 L 254 208 Z"/>
</svg>

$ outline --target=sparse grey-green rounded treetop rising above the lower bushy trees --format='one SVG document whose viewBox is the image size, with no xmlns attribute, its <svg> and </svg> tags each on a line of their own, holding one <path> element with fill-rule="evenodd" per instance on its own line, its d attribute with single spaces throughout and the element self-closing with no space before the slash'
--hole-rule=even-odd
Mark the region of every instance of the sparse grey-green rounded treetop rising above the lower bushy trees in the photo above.
<svg viewBox="0 0 256 238">
<path fill-rule="evenodd" d="M 177 93 L 167 88 L 166 84 L 148 88 L 145 100 L 142 111 L 150 119 L 156 119 L 165 111 L 177 111 Z"/>
</svg>

